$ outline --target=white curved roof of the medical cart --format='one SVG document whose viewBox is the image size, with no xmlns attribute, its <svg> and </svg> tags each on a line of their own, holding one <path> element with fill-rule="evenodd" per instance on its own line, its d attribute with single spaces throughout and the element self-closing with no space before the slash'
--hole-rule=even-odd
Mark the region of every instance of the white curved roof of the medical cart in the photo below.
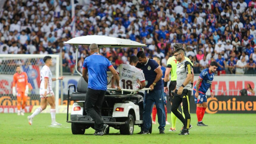
<svg viewBox="0 0 256 144">
<path fill-rule="evenodd" d="M 102 35 L 87 35 L 81 37 L 74 37 L 64 43 L 74 44 L 74 45 L 90 45 L 96 43 L 99 47 L 142 47 L 145 44 L 138 43 L 132 40 L 102 36 Z"/>
</svg>

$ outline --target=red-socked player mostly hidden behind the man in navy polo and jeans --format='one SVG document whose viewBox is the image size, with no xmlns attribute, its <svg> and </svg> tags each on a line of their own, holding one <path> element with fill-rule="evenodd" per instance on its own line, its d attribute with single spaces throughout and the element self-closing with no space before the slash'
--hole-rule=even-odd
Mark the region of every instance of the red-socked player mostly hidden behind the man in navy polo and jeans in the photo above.
<svg viewBox="0 0 256 144">
<path fill-rule="evenodd" d="M 160 65 L 160 60 L 161 60 L 160 57 L 153 57 L 153 60 L 155 60 L 158 65 Z M 166 68 L 163 67 L 163 66 L 161 66 L 161 71 L 162 71 L 162 73 L 163 73 L 162 80 L 164 80 Z M 164 82 L 164 81 L 163 81 L 163 82 Z M 170 124 L 170 123 L 167 121 L 167 108 L 166 108 L 167 101 L 166 101 L 166 93 L 164 93 L 164 104 L 165 104 L 165 105 L 164 105 L 164 108 L 165 108 L 165 115 L 166 115 L 166 124 Z M 153 109 L 152 109 L 152 123 L 153 123 L 153 124 L 156 124 L 156 114 L 157 114 L 157 108 L 156 108 L 156 105 L 154 104 Z"/>
</svg>

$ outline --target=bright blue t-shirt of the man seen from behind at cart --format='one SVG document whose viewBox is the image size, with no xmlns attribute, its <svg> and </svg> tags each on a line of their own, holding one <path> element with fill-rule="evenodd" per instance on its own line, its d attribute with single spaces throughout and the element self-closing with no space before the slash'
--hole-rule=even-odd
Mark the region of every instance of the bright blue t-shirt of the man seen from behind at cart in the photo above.
<svg viewBox="0 0 256 144">
<path fill-rule="evenodd" d="M 88 88 L 93 90 L 107 90 L 107 68 L 113 66 L 111 62 L 94 53 L 85 58 L 83 68 L 88 69 Z"/>
</svg>

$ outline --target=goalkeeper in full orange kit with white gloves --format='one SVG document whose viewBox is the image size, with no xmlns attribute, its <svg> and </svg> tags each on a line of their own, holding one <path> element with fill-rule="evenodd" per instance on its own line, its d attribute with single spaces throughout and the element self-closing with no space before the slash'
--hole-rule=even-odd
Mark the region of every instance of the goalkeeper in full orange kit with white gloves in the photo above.
<svg viewBox="0 0 256 144">
<path fill-rule="evenodd" d="M 13 75 L 13 96 L 17 96 L 18 115 L 24 115 L 24 108 L 26 106 L 26 100 L 29 93 L 28 76 L 26 72 L 21 72 L 20 66 L 16 67 L 16 72 L 17 73 Z M 15 88 L 16 84 L 17 87 Z"/>
</svg>

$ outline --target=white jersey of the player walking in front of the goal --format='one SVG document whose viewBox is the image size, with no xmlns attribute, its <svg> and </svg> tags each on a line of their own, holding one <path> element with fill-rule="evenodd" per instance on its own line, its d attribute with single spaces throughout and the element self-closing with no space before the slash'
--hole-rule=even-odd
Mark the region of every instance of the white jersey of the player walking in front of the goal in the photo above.
<svg viewBox="0 0 256 144">
<path fill-rule="evenodd" d="M 52 73 L 51 70 L 48 66 L 44 65 L 43 68 L 40 71 L 40 95 L 43 95 L 44 93 L 44 78 L 48 78 L 48 84 L 47 84 L 47 94 L 53 93 L 52 88 L 51 88 L 51 83 L 52 83 Z"/>
</svg>

